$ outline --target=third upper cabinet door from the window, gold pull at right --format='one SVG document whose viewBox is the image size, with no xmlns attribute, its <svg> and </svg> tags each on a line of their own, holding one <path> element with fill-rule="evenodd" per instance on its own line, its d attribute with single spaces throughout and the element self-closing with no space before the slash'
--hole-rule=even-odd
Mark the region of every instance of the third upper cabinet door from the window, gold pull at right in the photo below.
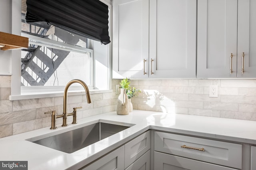
<svg viewBox="0 0 256 170">
<path fill-rule="evenodd" d="M 198 0 L 197 35 L 197 77 L 236 77 L 237 0 Z"/>
</svg>

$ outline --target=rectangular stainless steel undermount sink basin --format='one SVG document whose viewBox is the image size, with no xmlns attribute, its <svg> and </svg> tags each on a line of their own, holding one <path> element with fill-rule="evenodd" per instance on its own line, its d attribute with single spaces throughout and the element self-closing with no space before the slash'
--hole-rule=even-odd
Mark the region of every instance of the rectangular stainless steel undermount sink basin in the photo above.
<svg viewBox="0 0 256 170">
<path fill-rule="evenodd" d="M 98 122 L 40 140 L 30 141 L 62 152 L 72 153 L 126 128 L 129 126 Z"/>
</svg>

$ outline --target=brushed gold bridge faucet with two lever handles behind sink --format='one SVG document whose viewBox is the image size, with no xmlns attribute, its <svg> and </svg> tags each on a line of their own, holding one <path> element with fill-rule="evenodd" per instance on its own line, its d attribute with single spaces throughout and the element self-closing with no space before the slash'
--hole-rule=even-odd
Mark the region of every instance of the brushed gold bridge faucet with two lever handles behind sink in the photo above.
<svg viewBox="0 0 256 170">
<path fill-rule="evenodd" d="M 90 92 L 89 92 L 89 89 L 88 89 L 87 85 L 82 80 L 79 80 L 79 79 L 74 79 L 74 80 L 69 81 L 67 83 L 65 89 L 64 89 L 63 114 L 62 115 L 56 115 L 55 111 L 50 111 L 50 112 L 44 113 L 44 114 L 52 113 L 52 126 L 51 126 L 50 129 L 56 129 L 57 128 L 56 127 L 56 118 L 60 118 L 60 117 L 63 118 L 63 122 L 62 122 L 62 125 L 61 125 L 62 127 L 68 126 L 68 124 L 67 124 L 67 117 L 68 116 L 73 116 L 72 124 L 76 124 L 76 109 L 81 109 L 82 107 L 74 107 L 72 113 L 67 113 L 68 87 L 70 87 L 70 85 L 72 85 L 73 83 L 80 83 L 84 87 L 84 90 L 85 90 L 85 93 L 86 93 L 86 98 L 87 98 L 87 103 L 91 103 Z"/>
</svg>

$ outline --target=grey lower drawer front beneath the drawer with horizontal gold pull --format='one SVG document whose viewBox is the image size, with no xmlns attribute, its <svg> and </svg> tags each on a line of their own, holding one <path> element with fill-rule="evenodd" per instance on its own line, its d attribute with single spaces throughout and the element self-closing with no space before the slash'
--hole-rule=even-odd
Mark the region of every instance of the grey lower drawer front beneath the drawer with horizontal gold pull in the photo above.
<svg viewBox="0 0 256 170">
<path fill-rule="evenodd" d="M 154 170 L 236 170 L 180 156 L 154 152 Z"/>
</svg>

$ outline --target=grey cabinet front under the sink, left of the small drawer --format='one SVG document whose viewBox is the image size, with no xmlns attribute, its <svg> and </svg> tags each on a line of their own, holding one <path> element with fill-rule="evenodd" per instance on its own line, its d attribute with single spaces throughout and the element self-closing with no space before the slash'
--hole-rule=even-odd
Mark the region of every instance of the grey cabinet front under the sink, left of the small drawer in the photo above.
<svg viewBox="0 0 256 170">
<path fill-rule="evenodd" d="M 81 170 L 124 170 L 124 146 L 110 152 Z"/>
</svg>

